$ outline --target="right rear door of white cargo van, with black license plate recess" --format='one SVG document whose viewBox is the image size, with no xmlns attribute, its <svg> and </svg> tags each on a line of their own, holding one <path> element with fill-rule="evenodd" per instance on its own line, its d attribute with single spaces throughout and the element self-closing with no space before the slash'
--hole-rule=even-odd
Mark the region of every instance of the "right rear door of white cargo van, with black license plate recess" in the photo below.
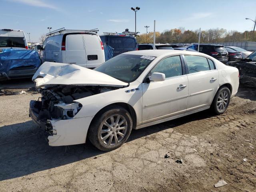
<svg viewBox="0 0 256 192">
<path fill-rule="evenodd" d="M 86 67 L 95 68 L 105 62 L 104 50 L 98 35 L 84 34 Z"/>
</svg>

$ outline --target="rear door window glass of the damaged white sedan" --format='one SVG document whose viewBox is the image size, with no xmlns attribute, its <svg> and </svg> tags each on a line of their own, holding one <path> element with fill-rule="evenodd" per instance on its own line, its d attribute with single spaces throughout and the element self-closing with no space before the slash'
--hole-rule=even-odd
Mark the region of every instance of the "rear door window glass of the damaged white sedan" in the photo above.
<svg viewBox="0 0 256 192">
<path fill-rule="evenodd" d="M 207 58 L 196 55 L 185 55 L 189 73 L 210 70 Z"/>
</svg>

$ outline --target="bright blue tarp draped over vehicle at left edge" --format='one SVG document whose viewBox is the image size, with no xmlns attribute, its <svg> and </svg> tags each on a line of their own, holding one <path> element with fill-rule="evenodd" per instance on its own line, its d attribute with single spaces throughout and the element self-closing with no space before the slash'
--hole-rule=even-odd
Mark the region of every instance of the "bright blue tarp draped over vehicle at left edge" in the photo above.
<svg viewBox="0 0 256 192">
<path fill-rule="evenodd" d="M 0 74 L 8 75 L 9 70 L 20 66 L 35 66 L 41 64 L 38 52 L 26 49 L 4 49 L 0 53 Z"/>
</svg>

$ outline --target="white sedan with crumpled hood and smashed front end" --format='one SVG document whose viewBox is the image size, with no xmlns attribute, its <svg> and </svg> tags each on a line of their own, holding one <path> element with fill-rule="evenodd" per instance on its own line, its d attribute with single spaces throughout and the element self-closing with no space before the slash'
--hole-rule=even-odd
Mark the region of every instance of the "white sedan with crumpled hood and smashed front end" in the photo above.
<svg viewBox="0 0 256 192">
<path fill-rule="evenodd" d="M 211 108 L 222 114 L 239 85 L 238 69 L 199 52 L 142 50 L 94 70 L 44 62 L 33 76 L 42 94 L 30 116 L 50 146 L 113 150 L 139 129 Z"/>
</svg>

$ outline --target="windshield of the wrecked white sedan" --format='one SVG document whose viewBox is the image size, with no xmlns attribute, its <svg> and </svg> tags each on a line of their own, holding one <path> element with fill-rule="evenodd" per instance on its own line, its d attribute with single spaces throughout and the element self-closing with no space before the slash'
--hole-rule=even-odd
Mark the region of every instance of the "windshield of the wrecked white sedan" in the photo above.
<svg viewBox="0 0 256 192">
<path fill-rule="evenodd" d="M 136 80 L 155 58 L 145 55 L 120 54 L 94 70 L 129 83 Z"/>
</svg>

